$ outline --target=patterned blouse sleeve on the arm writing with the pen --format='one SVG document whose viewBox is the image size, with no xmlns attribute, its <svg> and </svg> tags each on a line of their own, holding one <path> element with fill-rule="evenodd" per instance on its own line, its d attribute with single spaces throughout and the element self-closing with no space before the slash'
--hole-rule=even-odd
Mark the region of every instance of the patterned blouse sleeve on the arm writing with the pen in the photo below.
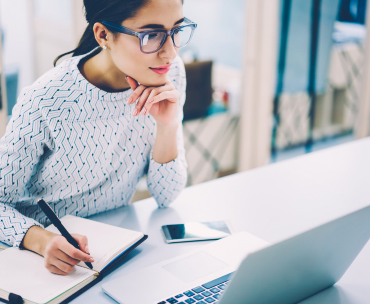
<svg viewBox="0 0 370 304">
<path fill-rule="evenodd" d="M 43 154 L 46 135 L 40 111 L 31 101 L 25 102 L 29 96 L 23 93 L 0 140 L 0 241 L 16 248 L 28 228 L 43 227 L 15 208 L 20 208 L 19 200 L 26 195 L 25 185 Z"/>
</svg>

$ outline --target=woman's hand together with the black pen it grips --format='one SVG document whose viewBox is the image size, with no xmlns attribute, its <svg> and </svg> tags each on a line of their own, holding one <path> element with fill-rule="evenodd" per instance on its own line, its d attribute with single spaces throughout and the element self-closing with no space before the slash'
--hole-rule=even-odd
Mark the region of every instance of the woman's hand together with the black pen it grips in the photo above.
<svg viewBox="0 0 370 304">
<path fill-rule="evenodd" d="M 89 255 L 86 236 L 70 235 L 45 201 L 40 199 L 38 205 L 62 234 L 53 236 L 47 243 L 44 250 L 46 268 L 53 273 L 67 274 L 80 261 L 92 268 L 91 262 L 94 262 L 94 259 Z"/>
</svg>

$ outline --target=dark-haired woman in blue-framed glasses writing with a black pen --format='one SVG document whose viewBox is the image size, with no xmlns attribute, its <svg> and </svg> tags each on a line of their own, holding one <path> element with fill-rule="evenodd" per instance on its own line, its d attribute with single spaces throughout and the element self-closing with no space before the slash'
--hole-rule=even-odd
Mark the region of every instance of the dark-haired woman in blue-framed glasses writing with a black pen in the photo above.
<svg viewBox="0 0 370 304">
<path fill-rule="evenodd" d="M 184 22 L 181 0 L 84 5 L 89 24 L 73 57 L 21 92 L 0 142 L 0 240 L 43 255 L 58 274 L 94 259 L 86 237 L 73 235 L 77 250 L 43 229 L 38 198 L 60 217 L 88 216 L 127 205 L 144 174 L 159 207 L 186 184 L 177 52 L 196 24 Z"/>
</svg>

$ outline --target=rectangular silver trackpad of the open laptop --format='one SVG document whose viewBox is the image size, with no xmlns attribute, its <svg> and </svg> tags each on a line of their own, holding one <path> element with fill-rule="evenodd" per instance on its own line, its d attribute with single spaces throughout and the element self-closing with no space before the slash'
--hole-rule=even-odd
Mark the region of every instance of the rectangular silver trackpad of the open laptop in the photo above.
<svg viewBox="0 0 370 304">
<path fill-rule="evenodd" d="M 189 283 L 228 266 L 228 264 L 201 251 L 176 262 L 166 264 L 162 268 L 180 280 Z"/>
</svg>

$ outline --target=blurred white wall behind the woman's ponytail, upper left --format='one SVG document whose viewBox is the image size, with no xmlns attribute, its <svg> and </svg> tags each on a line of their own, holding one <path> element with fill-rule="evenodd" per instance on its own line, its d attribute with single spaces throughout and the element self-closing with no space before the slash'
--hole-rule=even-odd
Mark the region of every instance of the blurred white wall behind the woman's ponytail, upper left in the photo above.
<svg viewBox="0 0 370 304">
<path fill-rule="evenodd" d="M 85 21 L 82 0 L 0 0 L 3 64 L 20 69 L 18 93 L 73 49 Z"/>
</svg>

